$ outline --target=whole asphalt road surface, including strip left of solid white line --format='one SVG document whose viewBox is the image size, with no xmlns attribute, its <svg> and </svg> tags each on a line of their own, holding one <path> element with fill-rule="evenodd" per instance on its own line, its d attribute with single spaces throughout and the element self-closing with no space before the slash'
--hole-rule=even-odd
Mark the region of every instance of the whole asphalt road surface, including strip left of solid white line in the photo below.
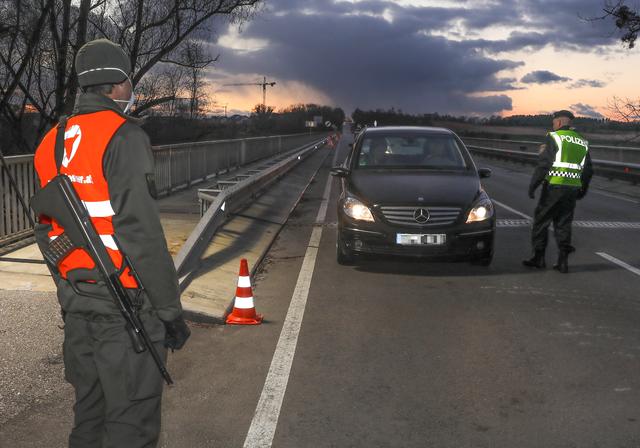
<svg viewBox="0 0 640 448">
<path fill-rule="evenodd" d="M 640 446 L 640 275 L 598 255 L 639 269 L 639 229 L 576 228 L 570 275 L 521 266 L 525 226 L 498 229 L 490 267 L 339 266 L 337 182 L 316 223 L 327 152 L 254 279 L 265 323 L 194 327 L 171 356 L 161 446 L 242 447 L 248 433 L 291 448 Z M 498 206 L 500 219 L 533 214 L 530 167 L 477 164 L 494 169 L 484 186 L 512 209 Z M 576 219 L 640 222 L 615 185 L 590 192 Z M 254 419 L 259 402 L 269 412 Z M 23 413 L 0 446 L 64 446 L 69 416 L 68 400 Z"/>
</svg>

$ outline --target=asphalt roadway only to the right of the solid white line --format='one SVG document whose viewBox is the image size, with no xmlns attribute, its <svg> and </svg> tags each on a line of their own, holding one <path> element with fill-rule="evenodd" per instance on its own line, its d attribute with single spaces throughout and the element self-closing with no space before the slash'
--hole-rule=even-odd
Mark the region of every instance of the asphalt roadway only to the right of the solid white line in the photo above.
<svg viewBox="0 0 640 448">
<path fill-rule="evenodd" d="M 532 215 L 530 168 L 493 168 L 489 194 Z M 594 190 L 576 219 L 640 210 Z M 568 276 L 520 265 L 528 228 L 498 232 L 490 268 L 342 267 L 325 232 L 273 446 L 638 446 L 640 277 L 596 255 L 640 267 L 638 230 L 576 229 Z"/>
</svg>

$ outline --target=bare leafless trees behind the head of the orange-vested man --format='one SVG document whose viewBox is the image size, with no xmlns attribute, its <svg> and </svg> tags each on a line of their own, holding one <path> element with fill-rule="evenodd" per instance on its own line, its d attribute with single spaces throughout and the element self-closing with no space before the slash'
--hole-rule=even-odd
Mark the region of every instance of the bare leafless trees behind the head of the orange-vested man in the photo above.
<svg viewBox="0 0 640 448">
<path fill-rule="evenodd" d="M 250 19 L 260 2 L 0 0 L 0 118 L 21 146 L 31 146 L 61 114 L 71 111 L 78 92 L 73 60 L 85 42 L 97 37 L 119 43 L 131 57 L 132 82 L 143 92 L 134 115 L 175 103 L 184 73 L 158 67 L 197 70 L 196 84 L 201 83 L 202 70 L 215 58 L 198 56 L 187 67 L 181 55 L 189 38 L 209 34 L 224 22 Z M 199 98 L 192 98 L 195 112 Z M 25 139 L 26 116 L 33 120 L 33 113 L 39 123 L 34 138 Z"/>
</svg>

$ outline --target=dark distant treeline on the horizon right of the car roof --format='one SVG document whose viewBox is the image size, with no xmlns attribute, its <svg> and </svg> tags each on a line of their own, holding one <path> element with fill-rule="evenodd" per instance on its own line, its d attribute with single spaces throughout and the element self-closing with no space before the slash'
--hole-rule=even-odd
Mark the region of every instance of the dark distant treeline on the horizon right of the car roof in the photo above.
<svg viewBox="0 0 640 448">
<path fill-rule="evenodd" d="M 411 115 L 396 109 L 377 109 L 364 111 L 356 109 L 352 114 L 353 121 L 359 125 L 372 126 L 431 126 L 437 122 L 456 122 L 487 126 L 525 126 L 547 128 L 551 123 L 551 115 L 512 115 L 509 117 L 465 117 L 440 115 L 438 113 Z M 637 131 L 640 121 L 621 122 L 608 118 L 577 117 L 575 125 L 585 132 L 594 131 Z"/>
</svg>

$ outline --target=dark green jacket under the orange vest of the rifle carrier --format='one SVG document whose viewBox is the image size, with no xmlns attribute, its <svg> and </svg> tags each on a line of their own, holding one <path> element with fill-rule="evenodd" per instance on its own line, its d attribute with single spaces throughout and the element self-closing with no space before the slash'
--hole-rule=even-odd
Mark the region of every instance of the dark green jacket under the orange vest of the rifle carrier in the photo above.
<svg viewBox="0 0 640 448">
<path fill-rule="evenodd" d="M 113 110 L 120 107 L 103 95 L 86 93 L 78 97 L 74 114 Z M 152 197 L 154 159 L 149 137 L 131 118 L 118 129 L 109 142 L 103 159 L 104 175 L 109 185 L 111 205 L 115 211 L 113 226 L 120 249 L 131 259 L 147 291 L 145 308 L 153 308 L 158 317 L 171 321 L 182 314 L 178 278 L 167 249 L 160 215 Z M 50 226 L 36 225 L 36 238 L 47 241 Z M 106 288 L 86 284 L 91 293 L 104 300 L 78 296 L 67 281 L 59 280 L 58 298 L 67 313 L 115 315 L 117 308 Z"/>
</svg>

